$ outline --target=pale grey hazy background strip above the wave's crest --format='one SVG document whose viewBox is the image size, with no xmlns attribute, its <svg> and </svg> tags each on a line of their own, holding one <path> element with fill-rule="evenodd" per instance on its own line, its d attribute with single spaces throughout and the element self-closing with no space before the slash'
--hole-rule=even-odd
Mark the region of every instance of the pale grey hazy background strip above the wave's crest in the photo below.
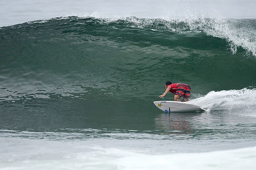
<svg viewBox="0 0 256 170">
<path fill-rule="evenodd" d="M 45 0 L 44 2 L 20 0 L 1 3 L 0 26 L 8 26 L 31 20 L 50 19 L 60 16 L 91 16 L 97 18 L 130 17 L 161 18 L 161 19 L 189 19 L 189 18 L 253 18 L 256 16 L 255 2 L 247 0 L 218 1 L 202 0 L 77 0 L 75 2 L 60 3 Z M 17 17 L 18 16 L 18 17 Z"/>
</svg>

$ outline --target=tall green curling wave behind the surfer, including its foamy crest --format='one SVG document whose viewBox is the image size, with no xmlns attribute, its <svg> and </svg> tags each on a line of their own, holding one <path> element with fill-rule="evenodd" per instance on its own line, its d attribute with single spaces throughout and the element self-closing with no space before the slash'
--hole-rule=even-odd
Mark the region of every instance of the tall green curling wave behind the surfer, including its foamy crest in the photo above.
<svg viewBox="0 0 256 170">
<path fill-rule="evenodd" d="M 255 23 L 68 17 L 2 27 L 1 100 L 152 101 L 167 80 L 188 83 L 192 98 L 255 87 Z"/>
</svg>

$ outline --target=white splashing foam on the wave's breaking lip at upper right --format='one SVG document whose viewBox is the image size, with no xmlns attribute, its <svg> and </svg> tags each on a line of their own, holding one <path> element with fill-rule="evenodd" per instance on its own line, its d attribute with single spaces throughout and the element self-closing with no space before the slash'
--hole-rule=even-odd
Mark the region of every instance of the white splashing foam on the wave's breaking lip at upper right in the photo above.
<svg viewBox="0 0 256 170">
<path fill-rule="evenodd" d="M 120 19 L 120 18 L 119 18 Z M 124 19 L 124 18 L 123 18 Z M 113 22 L 118 19 L 108 19 Z M 138 19 L 135 17 L 125 18 L 133 26 L 145 28 L 160 24 L 162 28 L 171 31 L 184 32 L 206 32 L 209 36 L 225 39 L 233 54 L 236 54 L 239 47 L 246 49 L 248 53 L 256 56 L 256 25 L 255 20 L 234 20 L 225 18 L 198 18 L 195 16 L 181 17 L 179 19 L 163 18 L 159 20 Z"/>
</svg>

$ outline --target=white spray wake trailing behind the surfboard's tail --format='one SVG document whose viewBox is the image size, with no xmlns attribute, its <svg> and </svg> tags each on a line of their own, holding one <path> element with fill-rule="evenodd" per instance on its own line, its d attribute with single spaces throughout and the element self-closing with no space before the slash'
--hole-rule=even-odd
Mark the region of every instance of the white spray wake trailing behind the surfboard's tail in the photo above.
<svg viewBox="0 0 256 170">
<path fill-rule="evenodd" d="M 256 89 L 210 91 L 206 96 L 190 101 L 207 110 L 256 117 Z"/>
</svg>

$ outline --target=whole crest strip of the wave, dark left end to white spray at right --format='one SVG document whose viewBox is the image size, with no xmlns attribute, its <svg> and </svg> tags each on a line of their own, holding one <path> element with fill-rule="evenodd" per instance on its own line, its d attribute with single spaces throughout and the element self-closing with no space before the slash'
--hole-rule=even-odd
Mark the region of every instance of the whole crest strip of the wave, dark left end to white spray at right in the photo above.
<svg viewBox="0 0 256 170">
<path fill-rule="evenodd" d="M 62 23 L 64 25 L 88 25 L 99 24 L 122 29 L 122 27 L 141 28 L 172 32 L 205 32 L 208 36 L 225 39 L 229 49 L 236 54 L 238 48 L 247 50 L 248 54 L 256 56 L 256 22 L 255 19 L 216 19 L 216 18 L 184 18 L 184 19 L 143 19 L 137 17 L 95 18 L 95 17 L 58 17 L 50 20 L 36 20 L 22 25 L 14 25 L 11 28 L 22 26 L 38 28 Z M 28 24 L 28 25 L 27 25 Z M 56 25 L 57 24 L 57 25 Z M 61 26 L 61 25 L 59 25 Z"/>
</svg>

